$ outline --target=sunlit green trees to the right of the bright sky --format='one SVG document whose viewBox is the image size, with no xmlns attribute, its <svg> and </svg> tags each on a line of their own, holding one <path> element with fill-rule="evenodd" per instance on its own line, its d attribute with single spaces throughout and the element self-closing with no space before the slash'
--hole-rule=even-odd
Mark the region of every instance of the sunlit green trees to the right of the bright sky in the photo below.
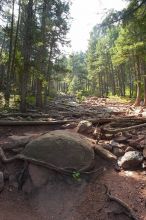
<svg viewBox="0 0 146 220">
<path fill-rule="evenodd" d="M 136 94 L 135 81 L 141 82 L 146 68 L 145 21 L 144 2 L 132 0 L 123 11 L 110 11 L 102 25 L 93 28 L 87 69 L 94 94 Z"/>
</svg>

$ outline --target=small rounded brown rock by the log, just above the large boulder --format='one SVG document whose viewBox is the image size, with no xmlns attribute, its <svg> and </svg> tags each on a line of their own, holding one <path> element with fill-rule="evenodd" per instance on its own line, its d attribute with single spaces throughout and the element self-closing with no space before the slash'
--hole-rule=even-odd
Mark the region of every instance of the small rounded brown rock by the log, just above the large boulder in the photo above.
<svg viewBox="0 0 146 220">
<path fill-rule="evenodd" d="M 80 121 L 77 126 L 77 132 L 81 134 L 90 134 L 93 131 L 92 123 L 90 121 Z"/>
</svg>

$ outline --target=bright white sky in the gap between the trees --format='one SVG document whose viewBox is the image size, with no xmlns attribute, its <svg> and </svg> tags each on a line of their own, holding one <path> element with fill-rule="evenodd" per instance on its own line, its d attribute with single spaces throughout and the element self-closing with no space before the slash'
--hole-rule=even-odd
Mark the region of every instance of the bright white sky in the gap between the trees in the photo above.
<svg viewBox="0 0 146 220">
<path fill-rule="evenodd" d="M 105 9 L 121 10 L 125 6 L 126 2 L 122 0 L 72 0 L 73 21 L 68 35 L 72 47 L 69 51 L 87 49 L 89 33 L 95 24 L 101 22 Z"/>
</svg>

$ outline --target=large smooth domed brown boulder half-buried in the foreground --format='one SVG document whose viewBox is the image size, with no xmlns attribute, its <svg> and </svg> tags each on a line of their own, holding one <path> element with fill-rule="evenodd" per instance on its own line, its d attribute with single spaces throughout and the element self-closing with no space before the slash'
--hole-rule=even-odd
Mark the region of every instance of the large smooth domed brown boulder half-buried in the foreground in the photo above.
<svg viewBox="0 0 146 220">
<path fill-rule="evenodd" d="M 21 153 L 27 159 L 71 170 L 88 170 L 93 165 L 94 150 L 82 135 L 56 130 L 32 140 Z"/>
</svg>

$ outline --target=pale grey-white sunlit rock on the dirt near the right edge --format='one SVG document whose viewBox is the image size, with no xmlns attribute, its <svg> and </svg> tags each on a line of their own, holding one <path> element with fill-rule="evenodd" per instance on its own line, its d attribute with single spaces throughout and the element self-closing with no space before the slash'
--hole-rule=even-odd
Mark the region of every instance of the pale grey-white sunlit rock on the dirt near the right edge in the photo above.
<svg viewBox="0 0 146 220">
<path fill-rule="evenodd" d="M 123 169 L 132 169 L 139 166 L 143 161 L 143 156 L 139 151 L 129 151 L 118 160 L 118 165 Z"/>
</svg>

